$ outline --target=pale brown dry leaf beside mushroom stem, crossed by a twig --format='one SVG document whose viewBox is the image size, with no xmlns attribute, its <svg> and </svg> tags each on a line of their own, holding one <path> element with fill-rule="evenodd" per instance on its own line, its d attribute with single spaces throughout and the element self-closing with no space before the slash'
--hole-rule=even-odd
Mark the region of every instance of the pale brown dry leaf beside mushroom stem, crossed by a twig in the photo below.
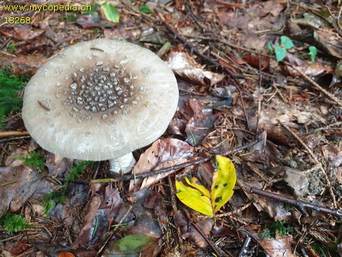
<svg viewBox="0 0 342 257">
<path fill-rule="evenodd" d="M 192 146 L 181 140 L 174 138 L 159 139 L 140 156 L 139 161 L 134 167 L 135 174 L 146 173 L 153 169 L 172 167 L 176 164 L 186 162 L 187 159 L 193 156 L 192 151 Z M 174 172 L 175 171 L 169 171 L 153 175 L 144 178 L 144 180 L 131 180 L 129 191 L 138 191 L 142 188 L 156 184 Z"/>
</svg>

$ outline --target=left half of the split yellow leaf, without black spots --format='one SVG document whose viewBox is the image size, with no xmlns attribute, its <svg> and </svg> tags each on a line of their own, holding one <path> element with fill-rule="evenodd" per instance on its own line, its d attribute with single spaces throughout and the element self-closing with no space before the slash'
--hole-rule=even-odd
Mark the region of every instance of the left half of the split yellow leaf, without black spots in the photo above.
<svg viewBox="0 0 342 257">
<path fill-rule="evenodd" d="M 186 179 L 187 178 L 185 178 L 185 180 Z M 176 195 L 183 204 L 189 206 L 189 208 L 197 210 L 204 215 L 213 216 L 213 206 L 211 206 L 211 200 L 197 188 L 185 186 L 183 182 L 176 180 L 176 190 Z"/>
</svg>

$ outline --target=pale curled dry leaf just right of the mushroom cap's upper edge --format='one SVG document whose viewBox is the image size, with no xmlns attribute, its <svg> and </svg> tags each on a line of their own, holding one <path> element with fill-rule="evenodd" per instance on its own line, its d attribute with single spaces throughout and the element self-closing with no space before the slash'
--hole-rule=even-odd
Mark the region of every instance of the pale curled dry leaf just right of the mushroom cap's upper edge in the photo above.
<svg viewBox="0 0 342 257">
<path fill-rule="evenodd" d="M 224 79 L 224 74 L 205 71 L 194 58 L 184 52 L 172 53 L 168 64 L 174 73 L 202 86 L 212 86 Z"/>
</svg>

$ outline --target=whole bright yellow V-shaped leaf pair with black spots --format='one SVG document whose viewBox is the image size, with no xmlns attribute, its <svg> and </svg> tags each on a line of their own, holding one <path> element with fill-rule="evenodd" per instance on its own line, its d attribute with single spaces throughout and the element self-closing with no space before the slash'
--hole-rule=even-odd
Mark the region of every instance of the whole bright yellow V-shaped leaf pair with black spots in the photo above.
<svg viewBox="0 0 342 257">
<path fill-rule="evenodd" d="M 215 212 L 232 197 L 236 183 L 233 162 L 223 156 L 216 156 L 216 161 L 218 170 L 213 174 L 211 191 L 200 184 L 197 178 L 185 178 L 188 185 L 176 180 L 176 196 L 181 202 L 208 216 L 214 216 Z"/>
</svg>

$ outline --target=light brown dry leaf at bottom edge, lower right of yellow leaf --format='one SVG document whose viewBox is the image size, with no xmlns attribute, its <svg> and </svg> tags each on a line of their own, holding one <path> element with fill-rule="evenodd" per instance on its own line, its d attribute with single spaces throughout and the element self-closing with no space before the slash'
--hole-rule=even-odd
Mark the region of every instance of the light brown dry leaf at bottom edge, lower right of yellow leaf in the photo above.
<svg viewBox="0 0 342 257">
<path fill-rule="evenodd" d="M 278 236 L 279 237 L 279 236 Z M 281 238 L 271 239 L 264 238 L 258 243 L 263 247 L 267 256 L 272 257 L 295 257 L 292 254 L 293 249 L 291 247 L 291 243 L 293 238 L 291 235 L 287 235 Z"/>
</svg>

